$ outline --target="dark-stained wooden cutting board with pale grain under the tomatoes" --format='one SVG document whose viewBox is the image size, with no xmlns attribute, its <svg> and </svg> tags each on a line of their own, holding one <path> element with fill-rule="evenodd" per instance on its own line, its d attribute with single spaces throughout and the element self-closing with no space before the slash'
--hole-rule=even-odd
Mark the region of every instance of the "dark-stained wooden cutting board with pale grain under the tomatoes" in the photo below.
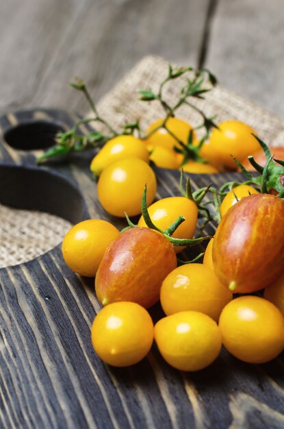
<svg viewBox="0 0 284 429">
<path fill-rule="evenodd" d="M 40 148 L 26 149 L 47 138 L 52 143 L 54 125 L 65 129 L 74 119 L 64 111 L 40 109 L 0 119 L 0 201 L 73 222 L 101 217 L 120 227 L 123 221 L 109 217 L 96 199 L 92 151 L 36 167 Z M 179 193 L 179 172 L 156 173 L 159 197 Z M 192 183 L 195 188 L 232 177 L 240 175 L 192 175 Z M 222 350 L 207 369 L 182 373 L 153 345 L 138 365 L 105 365 L 90 342 L 101 308 L 93 280 L 66 267 L 60 246 L 0 269 L 0 302 L 1 428 L 284 427 L 283 354 L 266 365 L 247 365 Z M 162 316 L 159 305 L 150 312 L 154 321 Z"/>
</svg>

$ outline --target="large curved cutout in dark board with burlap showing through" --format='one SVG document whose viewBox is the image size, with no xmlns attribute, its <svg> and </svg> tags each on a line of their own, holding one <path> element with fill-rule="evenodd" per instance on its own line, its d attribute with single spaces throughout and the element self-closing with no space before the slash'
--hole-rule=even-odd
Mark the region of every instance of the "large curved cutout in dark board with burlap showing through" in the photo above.
<svg viewBox="0 0 284 429">
<path fill-rule="evenodd" d="M 0 267 L 32 260 L 86 219 L 79 190 L 47 169 L 0 164 Z"/>
</svg>

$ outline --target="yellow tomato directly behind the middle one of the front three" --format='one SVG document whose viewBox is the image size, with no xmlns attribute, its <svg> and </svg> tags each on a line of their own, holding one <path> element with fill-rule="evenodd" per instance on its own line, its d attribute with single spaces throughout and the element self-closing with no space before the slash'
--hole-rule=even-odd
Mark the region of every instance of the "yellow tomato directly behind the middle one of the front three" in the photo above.
<svg viewBox="0 0 284 429">
<path fill-rule="evenodd" d="M 160 299 L 166 315 L 179 311 L 203 312 L 218 321 L 233 294 L 213 269 L 203 264 L 187 264 L 171 271 L 162 283 Z"/>
</svg>

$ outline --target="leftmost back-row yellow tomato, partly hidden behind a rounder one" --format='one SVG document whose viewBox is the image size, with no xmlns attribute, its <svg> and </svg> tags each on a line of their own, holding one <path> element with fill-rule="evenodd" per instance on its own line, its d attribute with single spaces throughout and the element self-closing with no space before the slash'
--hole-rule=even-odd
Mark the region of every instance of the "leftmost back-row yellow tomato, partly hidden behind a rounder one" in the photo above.
<svg viewBox="0 0 284 429">
<path fill-rule="evenodd" d="M 117 136 L 108 140 L 91 162 L 90 169 L 99 176 L 105 167 L 116 160 L 129 157 L 149 162 L 149 151 L 144 142 L 134 136 Z"/>
</svg>

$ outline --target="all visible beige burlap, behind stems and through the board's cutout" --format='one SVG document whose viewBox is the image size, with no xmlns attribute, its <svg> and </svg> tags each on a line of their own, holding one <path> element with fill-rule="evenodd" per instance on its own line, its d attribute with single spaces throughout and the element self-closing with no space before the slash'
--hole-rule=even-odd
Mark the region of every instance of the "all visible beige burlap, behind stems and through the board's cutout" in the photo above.
<svg viewBox="0 0 284 429">
<path fill-rule="evenodd" d="M 99 101 L 99 112 L 118 129 L 126 121 L 136 119 L 145 129 L 149 123 L 163 117 L 164 111 L 159 103 L 138 101 L 138 90 L 157 90 L 167 71 L 167 62 L 162 58 L 144 58 Z M 168 84 L 165 87 L 166 99 L 178 99 L 179 88 L 176 81 Z M 194 102 L 208 116 L 216 115 L 218 122 L 239 119 L 252 126 L 266 143 L 284 145 L 283 121 L 225 88 L 218 86 L 208 93 L 205 101 Z M 188 107 L 181 107 L 177 115 L 194 126 L 200 123 L 198 114 Z M 70 223 L 52 215 L 3 206 L 0 206 L 0 225 L 0 267 L 25 262 L 47 252 L 62 241 L 70 228 Z"/>
</svg>

